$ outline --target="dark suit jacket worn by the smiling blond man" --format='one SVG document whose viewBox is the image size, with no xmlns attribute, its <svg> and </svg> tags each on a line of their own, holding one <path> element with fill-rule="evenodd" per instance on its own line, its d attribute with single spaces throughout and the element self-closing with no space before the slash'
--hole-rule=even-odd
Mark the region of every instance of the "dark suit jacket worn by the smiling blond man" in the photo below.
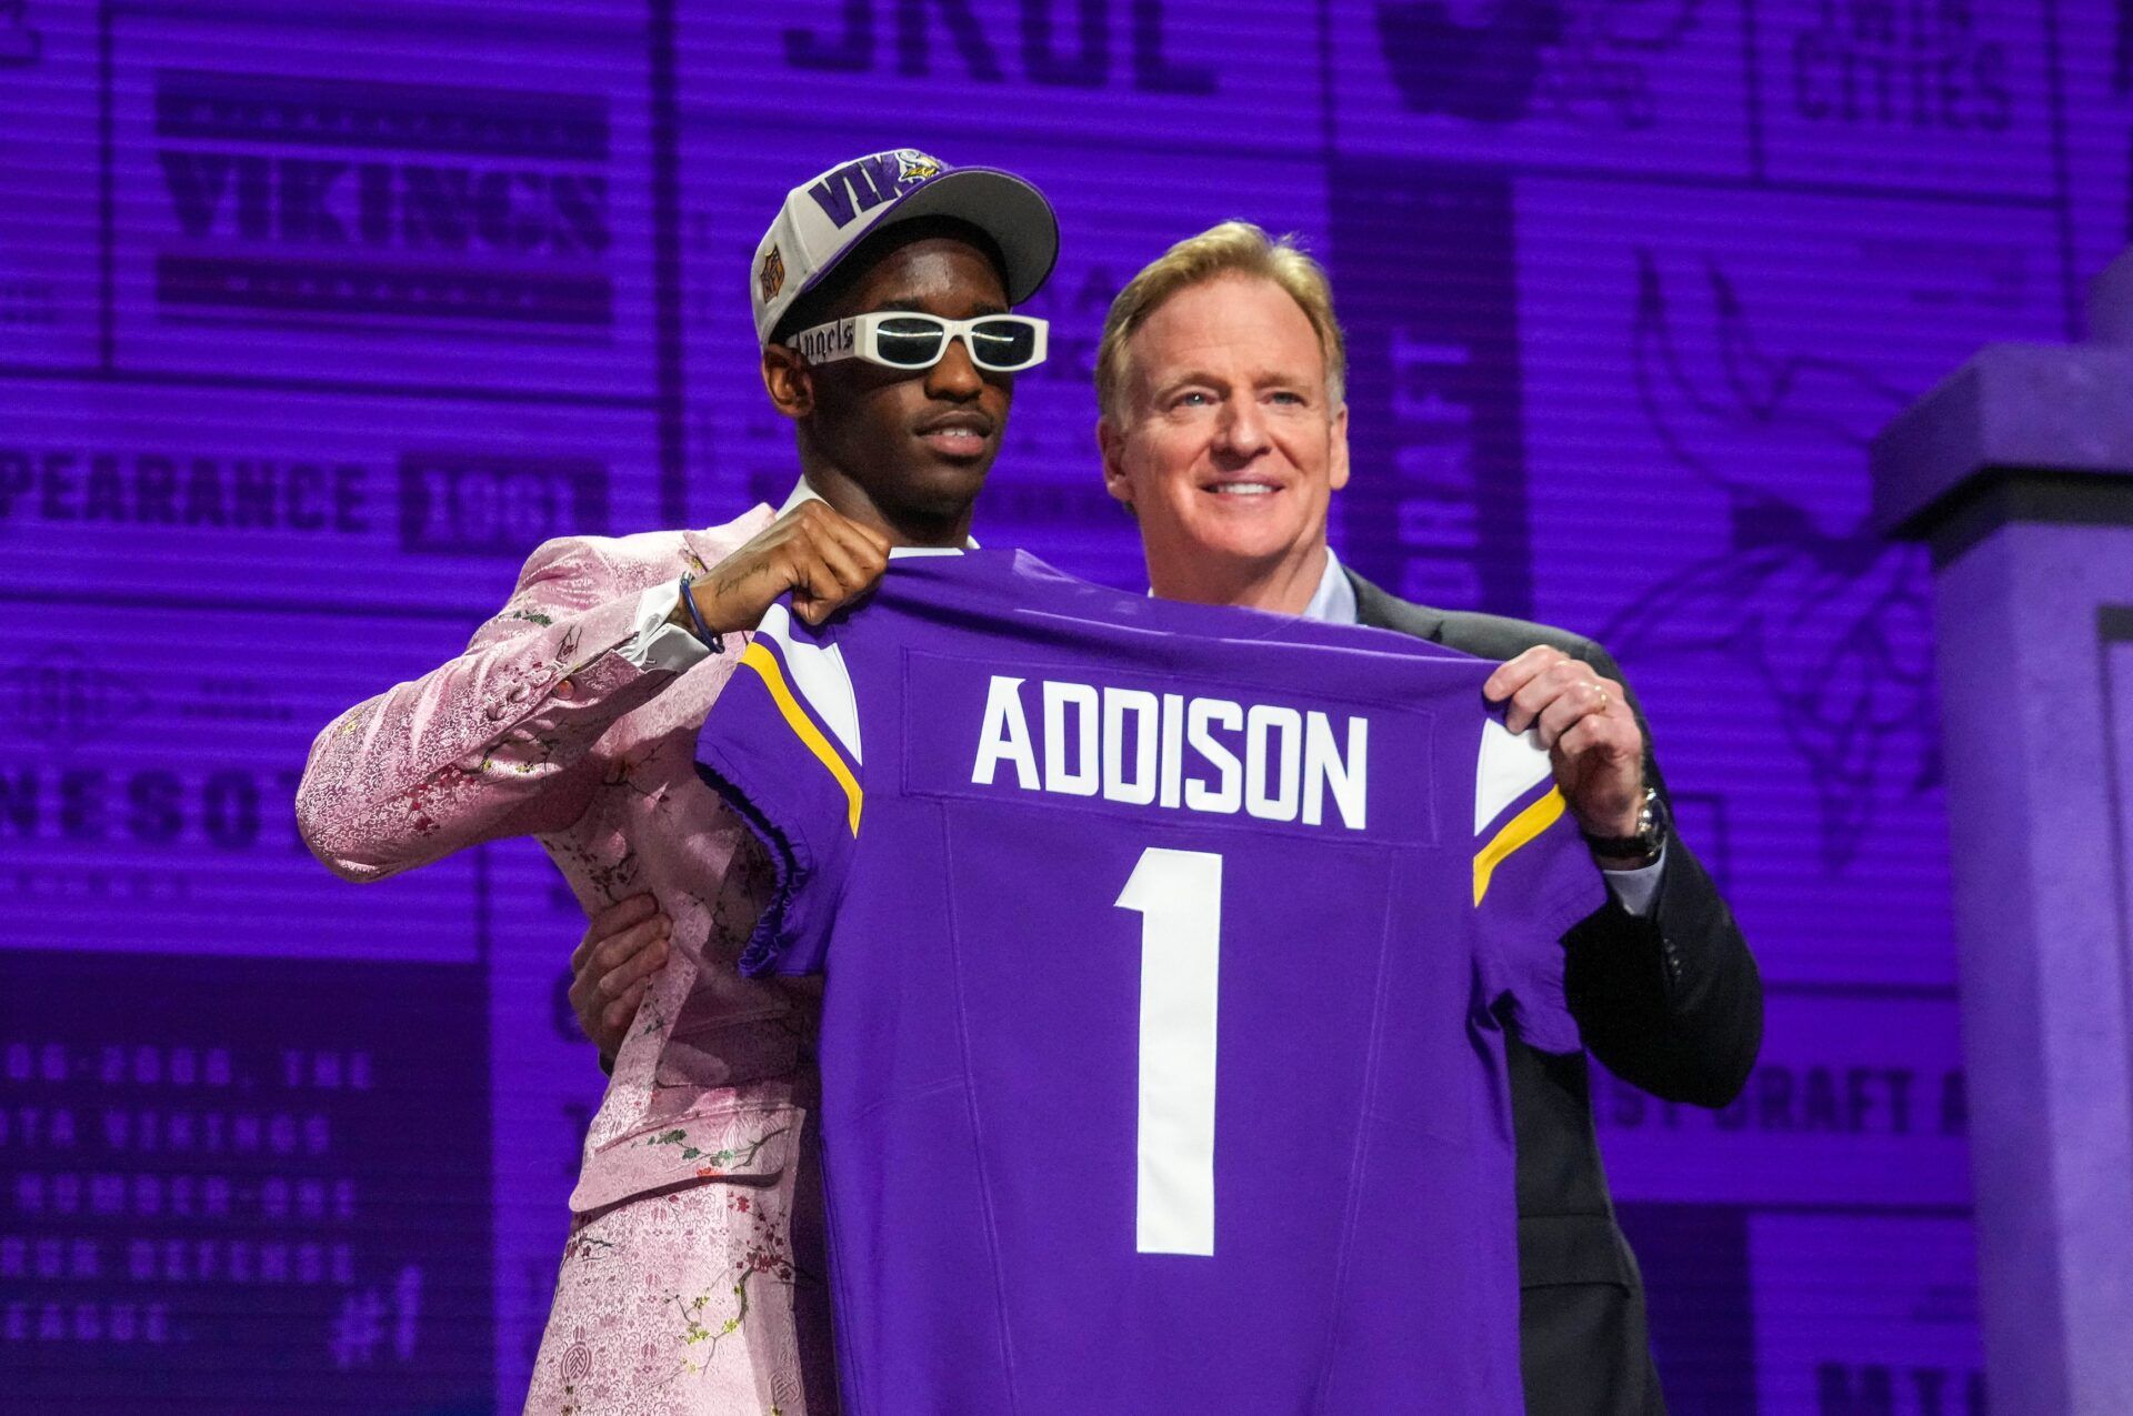
<svg viewBox="0 0 2133 1416">
<path fill-rule="evenodd" d="M 1534 644 L 1621 680 L 1595 642 L 1504 618 L 1425 610 L 1348 572 L 1357 616 L 1480 659 Z M 1636 721 L 1636 693 L 1623 689 Z M 1645 734 L 1647 778 L 1666 793 Z M 1762 977 L 1717 885 L 1683 840 L 1666 851 L 1659 894 L 1642 919 L 1608 900 L 1563 936 L 1570 1013 L 1610 1073 L 1666 1100 L 1723 1107 L 1762 1047 Z M 1529 1416 L 1664 1416 L 1645 1339 L 1645 1288 L 1615 1224 L 1585 1056 L 1551 1058 L 1508 1039 L 1510 1111 L 1519 1143 L 1519 1286 Z"/>
</svg>

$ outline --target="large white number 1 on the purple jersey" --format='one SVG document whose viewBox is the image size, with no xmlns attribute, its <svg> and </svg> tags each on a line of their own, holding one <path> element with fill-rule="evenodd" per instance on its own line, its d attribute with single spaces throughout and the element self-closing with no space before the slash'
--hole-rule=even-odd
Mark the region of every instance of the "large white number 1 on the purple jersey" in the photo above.
<svg viewBox="0 0 2133 1416">
<path fill-rule="evenodd" d="M 1118 896 L 1141 915 L 1135 1250 L 1214 1254 L 1214 1011 L 1222 857 L 1148 847 Z"/>
</svg>

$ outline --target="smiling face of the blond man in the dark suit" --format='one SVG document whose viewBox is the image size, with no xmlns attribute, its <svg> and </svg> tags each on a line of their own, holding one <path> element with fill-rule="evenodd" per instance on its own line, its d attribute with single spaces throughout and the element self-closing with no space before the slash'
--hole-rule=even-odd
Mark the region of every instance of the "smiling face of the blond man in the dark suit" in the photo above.
<svg viewBox="0 0 2133 1416">
<path fill-rule="evenodd" d="M 1105 486 L 1141 522 L 1150 584 L 1299 614 L 1348 484 L 1348 409 L 1331 405 L 1310 318 L 1269 279 L 1220 275 L 1148 316 L 1124 373 L 1098 441 Z"/>
</svg>

